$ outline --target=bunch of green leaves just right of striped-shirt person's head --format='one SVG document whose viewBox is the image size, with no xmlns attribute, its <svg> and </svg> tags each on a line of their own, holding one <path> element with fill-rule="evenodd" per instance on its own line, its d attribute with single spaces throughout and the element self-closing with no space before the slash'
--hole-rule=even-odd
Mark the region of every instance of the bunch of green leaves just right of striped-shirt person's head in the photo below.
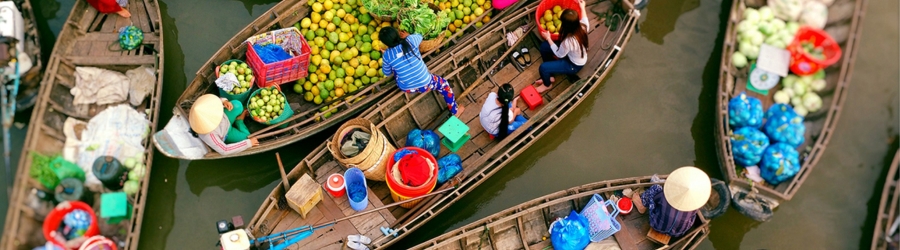
<svg viewBox="0 0 900 250">
<path fill-rule="evenodd" d="M 417 8 L 401 11 L 397 19 L 400 20 L 400 30 L 410 34 L 420 34 L 425 40 L 437 38 L 444 28 L 450 25 L 450 17 L 447 11 L 434 10 L 425 4 Z"/>
</svg>

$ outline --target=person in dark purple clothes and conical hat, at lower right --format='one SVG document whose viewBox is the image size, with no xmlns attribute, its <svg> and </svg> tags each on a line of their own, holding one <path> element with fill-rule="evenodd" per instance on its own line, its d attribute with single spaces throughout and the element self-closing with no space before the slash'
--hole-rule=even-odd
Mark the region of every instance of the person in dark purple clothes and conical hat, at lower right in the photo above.
<svg viewBox="0 0 900 250">
<path fill-rule="evenodd" d="M 703 170 L 681 167 L 672 171 L 665 187 L 656 184 L 641 194 L 641 202 L 650 212 L 650 227 L 672 237 L 684 235 L 694 225 L 697 210 L 709 200 L 711 187 Z"/>
</svg>

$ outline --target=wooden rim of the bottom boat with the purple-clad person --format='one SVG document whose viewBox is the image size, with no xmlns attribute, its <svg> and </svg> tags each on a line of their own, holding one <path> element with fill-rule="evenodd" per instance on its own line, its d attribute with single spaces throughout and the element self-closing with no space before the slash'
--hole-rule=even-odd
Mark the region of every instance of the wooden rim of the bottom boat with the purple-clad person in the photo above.
<svg viewBox="0 0 900 250">
<path fill-rule="evenodd" d="M 485 216 L 482 219 L 466 224 L 464 226 L 460 226 L 452 231 L 445 232 L 430 240 L 419 243 L 418 245 L 413 246 L 410 249 L 430 249 L 431 247 L 439 246 L 443 242 L 459 241 L 470 236 L 466 234 L 466 232 L 476 231 L 480 227 L 491 228 L 496 225 L 507 223 L 510 220 L 518 220 L 524 215 L 536 211 L 541 211 L 544 208 L 549 208 L 563 202 L 575 201 L 577 199 L 593 196 L 594 194 L 608 193 L 617 190 L 623 190 L 626 188 L 634 189 L 649 187 L 655 184 L 664 184 L 665 178 L 668 177 L 668 175 L 658 176 L 660 179 L 663 179 L 663 181 L 653 182 L 651 181 L 651 176 L 631 177 L 593 182 L 568 188 L 565 190 L 552 192 Z M 578 209 L 577 206 L 576 209 Z M 697 244 L 702 242 L 708 236 L 710 220 L 703 217 L 700 212 L 697 212 L 696 214 L 697 218 L 700 219 L 700 225 L 691 229 L 690 231 L 688 231 L 688 233 L 681 236 L 677 241 L 671 242 L 668 245 L 684 245 L 685 247 L 680 249 L 694 249 L 697 247 Z M 519 232 L 519 235 L 521 236 L 522 232 Z M 699 238 L 697 238 L 698 235 L 700 235 Z M 693 242 L 694 244 L 687 244 L 690 242 Z M 619 244 L 621 245 L 622 243 Z"/>
</svg>

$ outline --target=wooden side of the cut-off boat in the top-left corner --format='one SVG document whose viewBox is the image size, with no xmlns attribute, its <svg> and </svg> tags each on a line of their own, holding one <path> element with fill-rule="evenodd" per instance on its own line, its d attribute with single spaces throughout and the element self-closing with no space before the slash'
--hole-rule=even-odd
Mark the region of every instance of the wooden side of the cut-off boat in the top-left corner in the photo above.
<svg viewBox="0 0 900 250">
<path fill-rule="evenodd" d="M 22 81 L 16 98 L 16 111 L 18 112 L 34 106 L 34 102 L 37 100 L 37 94 L 40 91 L 41 72 L 44 67 L 43 62 L 41 61 L 40 36 L 37 23 L 35 23 L 34 9 L 31 7 L 31 1 L 14 0 L 12 2 L 15 3 L 19 12 L 22 13 L 24 36 L 22 37 L 22 41 L 19 41 L 22 44 L 22 52 L 27 54 L 27 57 L 31 59 L 30 62 L 28 62 L 28 64 L 31 65 L 31 68 L 21 73 Z M 0 12 L 0 14 L 2 14 L 2 12 Z"/>
</svg>

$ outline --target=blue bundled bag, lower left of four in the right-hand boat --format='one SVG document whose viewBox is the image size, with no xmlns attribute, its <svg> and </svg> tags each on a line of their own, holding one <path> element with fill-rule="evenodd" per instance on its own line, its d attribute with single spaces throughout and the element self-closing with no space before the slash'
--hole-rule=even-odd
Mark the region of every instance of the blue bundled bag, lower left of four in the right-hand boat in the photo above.
<svg viewBox="0 0 900 250">
<path fill-rule="evenodd" d="M 754 127 L 743 127 L 731 136 L 734 161 L 742 166 L 755 166 L 769 146 L 769 137 Z"/>
</svg>

